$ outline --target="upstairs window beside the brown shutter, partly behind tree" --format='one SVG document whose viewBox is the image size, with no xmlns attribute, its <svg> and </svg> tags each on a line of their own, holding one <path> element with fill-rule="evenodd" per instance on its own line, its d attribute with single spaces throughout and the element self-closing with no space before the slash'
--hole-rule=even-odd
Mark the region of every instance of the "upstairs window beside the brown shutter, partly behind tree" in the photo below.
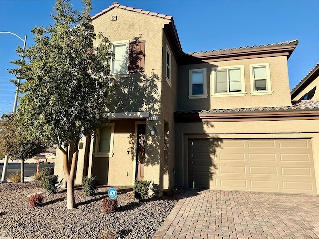
<svg viewBox="0 0 319 239">
<path fill-rule="evenodd" d="M 114 42 L 114 59 L 111 63 L 111 73 L 124 75 L 128 71 L 128 41 Z"/>
</svg>

